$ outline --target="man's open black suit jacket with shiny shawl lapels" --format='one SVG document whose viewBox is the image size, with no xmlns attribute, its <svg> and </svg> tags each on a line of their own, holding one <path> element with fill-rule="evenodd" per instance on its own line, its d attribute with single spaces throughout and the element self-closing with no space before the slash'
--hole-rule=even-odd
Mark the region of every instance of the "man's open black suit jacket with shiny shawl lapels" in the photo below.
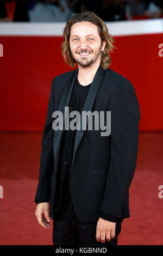
<svg viewBox="0 0 163 256">
<path fill-rule="evenodd" d="M 54 111 L 64 115 L 78 69 L 53 78 L 42 135 L 39 184 L 35 202 L 53 206 L 63 130 L 54 131 Z M 129 186 L 136 168 L 140 107 L 133 85 L 110 68 L 99 66 L 83 111 L 111 111 L 111 134 L 77 130 L 70 175 L 70 190 L 79 221 L 94 222 L 99 211 L 117 218 L 130 217 Z M 87 159 L 87 161 L 83 161 Z"/>
</svg>

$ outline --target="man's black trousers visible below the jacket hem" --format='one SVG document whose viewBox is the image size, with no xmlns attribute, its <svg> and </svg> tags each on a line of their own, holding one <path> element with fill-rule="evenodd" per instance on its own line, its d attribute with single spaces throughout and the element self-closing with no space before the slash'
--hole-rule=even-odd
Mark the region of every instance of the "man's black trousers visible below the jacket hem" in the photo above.
<svg viewBox="0 0 163 256">
<path fill-rule="evenodd" d="M 80 222 L 54 220 L 53 221 L 53 244 L 54 245 L 90 245 L 96 247 L 106 247 L 117 245 L 118 235 L 121 232 L 121 222 L 116 222 L 115 237 L 109 242 L 97 242 L 96 240 L 97 222 Z"/>
</svg>

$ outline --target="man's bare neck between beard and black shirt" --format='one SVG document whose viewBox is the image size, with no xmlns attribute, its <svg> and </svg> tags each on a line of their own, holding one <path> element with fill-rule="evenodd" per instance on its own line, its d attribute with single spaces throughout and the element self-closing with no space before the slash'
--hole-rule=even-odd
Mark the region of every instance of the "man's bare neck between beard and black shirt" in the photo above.
<svg viewBox="0 0 163 256">
<path fill-rule="evenodd" d="M 78 81 L 82 86 L 87 86 L 87 84 L 92 83 L 99 65 L 99 62 L 86 67 L 78 64 Z"/>
</svg>

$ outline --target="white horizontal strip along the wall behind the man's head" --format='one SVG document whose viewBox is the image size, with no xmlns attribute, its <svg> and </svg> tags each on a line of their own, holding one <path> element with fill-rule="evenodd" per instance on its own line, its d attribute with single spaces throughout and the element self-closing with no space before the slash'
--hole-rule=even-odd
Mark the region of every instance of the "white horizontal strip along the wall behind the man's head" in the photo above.
<svg viewBox="0 0 163 256">
<path fill-rule="evenodd" d="M 1 22 L 0 35 L 62 36 L 65 22 Z M 112 36 L 163 33 L 163 19 L 106 22 Z"/>
</svg>

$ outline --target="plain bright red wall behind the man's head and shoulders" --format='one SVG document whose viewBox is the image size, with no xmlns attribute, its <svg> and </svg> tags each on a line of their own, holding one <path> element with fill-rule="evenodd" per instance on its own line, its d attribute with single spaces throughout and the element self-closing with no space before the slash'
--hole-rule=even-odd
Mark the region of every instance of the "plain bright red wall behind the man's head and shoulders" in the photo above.
<svg viewBox="0 0 163 256">
<path fill-rule="evenodd" d="M 140 131 L 163 130 L 162 34 L 114 36 L 110 68 L 128 78 L 140 103 Z M 42 131 L 53 77 L 71 70 L 61 36 L 0 36 L 2 131 Z M 163 52 L 163 51 L 162 51 Z"/>
</svg>

